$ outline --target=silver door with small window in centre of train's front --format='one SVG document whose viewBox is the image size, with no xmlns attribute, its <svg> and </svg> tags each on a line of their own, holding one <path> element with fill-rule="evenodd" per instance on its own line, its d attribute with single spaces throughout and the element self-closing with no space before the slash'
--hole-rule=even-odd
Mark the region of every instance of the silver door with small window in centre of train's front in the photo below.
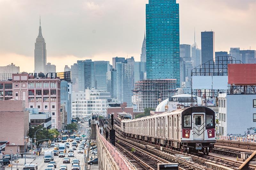
<svg viewBox="0 0 256 170">
<path fill-rule="evenodd" d="M 194 140 L 204 140 L 204 113 L 192 113 Z"/>
</svg>

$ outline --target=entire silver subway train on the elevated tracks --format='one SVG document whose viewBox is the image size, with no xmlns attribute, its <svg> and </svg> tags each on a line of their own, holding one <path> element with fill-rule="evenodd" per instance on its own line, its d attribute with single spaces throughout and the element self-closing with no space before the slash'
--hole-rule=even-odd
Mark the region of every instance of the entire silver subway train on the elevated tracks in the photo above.
<svg viewBox="0 0 256 170">
<path fill-rule="evenodd" d="M 126 137 L 183 152 L 209 154 L 214 147 L 215 112 L 193 106 L 161 114 L 121 121 Z"/>
</svg>

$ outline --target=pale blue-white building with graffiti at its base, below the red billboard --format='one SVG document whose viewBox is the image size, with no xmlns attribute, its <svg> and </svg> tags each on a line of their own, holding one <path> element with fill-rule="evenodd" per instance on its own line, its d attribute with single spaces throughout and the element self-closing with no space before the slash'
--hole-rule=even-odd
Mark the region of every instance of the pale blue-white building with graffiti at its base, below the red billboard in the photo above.
<svg viewBox="0 0 256 170">
<path fill-rule="evenodd" d="M 219 94 L 219 130 L 222 136 L 255 135 L 256 94 Z"/>
</svg>

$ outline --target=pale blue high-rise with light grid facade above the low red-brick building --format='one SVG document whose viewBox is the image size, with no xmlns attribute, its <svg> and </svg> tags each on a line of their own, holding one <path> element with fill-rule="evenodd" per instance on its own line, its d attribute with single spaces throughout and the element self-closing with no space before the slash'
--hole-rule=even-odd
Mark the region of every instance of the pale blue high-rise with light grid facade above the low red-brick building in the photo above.
<svg viewBox="0 0 256 170">
<path fill-rule="evenodd" d="M 127 106 L 132 106 L 132 73 L 131 64 L 116 63 L 116 84 L 117 99 L 127 102 Z"/>
</svg>

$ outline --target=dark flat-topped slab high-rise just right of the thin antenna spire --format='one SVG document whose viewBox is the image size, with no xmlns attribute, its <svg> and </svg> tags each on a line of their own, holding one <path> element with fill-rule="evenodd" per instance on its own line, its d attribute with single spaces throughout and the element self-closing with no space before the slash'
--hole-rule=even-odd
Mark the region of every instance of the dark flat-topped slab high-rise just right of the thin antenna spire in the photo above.
<svg viewBox="0 0 256 170">
<path fill-rule="evenodd" d="M 201 61 L 202 64 L 209 60 L 215 61 L 215 40 L 213 31 L 201 32 Z"/>
</svg>

